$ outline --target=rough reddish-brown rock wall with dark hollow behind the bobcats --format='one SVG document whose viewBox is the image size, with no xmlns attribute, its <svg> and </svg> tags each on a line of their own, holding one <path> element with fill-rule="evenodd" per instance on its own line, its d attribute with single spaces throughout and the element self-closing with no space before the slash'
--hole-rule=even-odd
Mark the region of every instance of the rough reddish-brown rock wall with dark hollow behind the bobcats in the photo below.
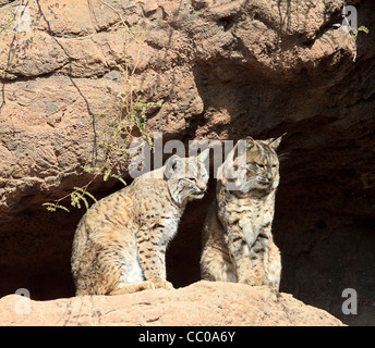
<svg viewBox="0 0 375 348">
<path fill-rule="evenodd" d="M 164 141 L 287 132 L 274 222 L 281 290 L 346 323 L 374 323 L 375 3 L 350 3 L 370 29 L 356 41 L 340 27 L 341 0 L 29 1 L 31 30 L 17 35 L 20 2 L 0 1 L 0 295 L 73 296 L 84 208 L 41 203 L 69 197 L 93 179 L 83 166 L 106 162 L 113 124 L 100 114 L 120 114 L 131 75 L 142 101 L 165 105 L 146 115 Z M 110 165 L 131 182 L 122 151 Z M 199 279 L 209 185 L 167 253 L 179 287 Z M 89 191 L 120 187 L 101 175 Z M 358 315 L 341 312 L 344 288 L 358 291 Z"/>
</svg>

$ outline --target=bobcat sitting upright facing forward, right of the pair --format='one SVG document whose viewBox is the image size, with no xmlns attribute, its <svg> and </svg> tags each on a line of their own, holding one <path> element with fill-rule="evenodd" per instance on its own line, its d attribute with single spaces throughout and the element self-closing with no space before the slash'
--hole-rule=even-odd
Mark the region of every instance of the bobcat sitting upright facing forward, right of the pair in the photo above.
<svg viewBox="0 0 375 348">
<path fill-rule="evenodd" d="M 276 149 L 281 138 L 247 137 L 242 141 L 243 154 L 238 142 L 218 169 L 216 199 L 203 228 L 203 279 L 279 289 L 281 259 L 273 239 L 271 223 L 279 184 Z M 230 159 L 234 159 L 231 167 L 237 173 L 227 170 Z M 240 167 L 240 159 L 244 167 Z"/>
</svg>

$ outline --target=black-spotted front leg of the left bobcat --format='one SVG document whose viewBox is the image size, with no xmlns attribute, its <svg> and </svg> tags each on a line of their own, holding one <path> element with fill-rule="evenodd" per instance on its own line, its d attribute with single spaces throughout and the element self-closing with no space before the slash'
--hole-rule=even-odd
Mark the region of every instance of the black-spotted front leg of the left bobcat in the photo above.
<svg viewBox="0 0 375 348">
<path fill-rule="evenodd" d="M 136 239 L 140 263 L 146 281 L 153 282 L 155 288 L 173 289 L 166 279 L 166 245 L 160 245 L 162 227 L 140 228 Z"/>
</svg>

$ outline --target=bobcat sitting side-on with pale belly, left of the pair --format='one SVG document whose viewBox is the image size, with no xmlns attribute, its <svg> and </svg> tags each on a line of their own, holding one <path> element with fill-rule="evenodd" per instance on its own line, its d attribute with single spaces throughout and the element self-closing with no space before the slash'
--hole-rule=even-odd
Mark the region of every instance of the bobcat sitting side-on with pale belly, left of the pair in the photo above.
<svg viewBox="0 0 375 348">
<path fill-rule="evenodd" d="M 207 156 L 208 150 L 185 159 L 174 154 L 86 212 L 72 248 L 76 296 L 173 288 L 166 279 L 166 249 L 188 201 L 206 191 Z"/>
</svg>

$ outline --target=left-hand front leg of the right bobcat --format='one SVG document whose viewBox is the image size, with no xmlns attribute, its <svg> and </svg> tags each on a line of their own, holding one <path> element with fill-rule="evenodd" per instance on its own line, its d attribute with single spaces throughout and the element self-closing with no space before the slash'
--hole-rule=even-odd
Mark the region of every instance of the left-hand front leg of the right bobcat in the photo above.
<svg viewBox="0 0 375 348">
<path fill-rule="evenodd" d="M 266 285 L 267 277 L 264 268 L 259 262 L 254 262 L 251 247 L 254 245 L 257 235 L 254 233 L 250 221 L 238 221 L 227 226 L 226 243 L 231 259 L 235 263 L 239 283 L 249 285 Z"/>
</svg>

